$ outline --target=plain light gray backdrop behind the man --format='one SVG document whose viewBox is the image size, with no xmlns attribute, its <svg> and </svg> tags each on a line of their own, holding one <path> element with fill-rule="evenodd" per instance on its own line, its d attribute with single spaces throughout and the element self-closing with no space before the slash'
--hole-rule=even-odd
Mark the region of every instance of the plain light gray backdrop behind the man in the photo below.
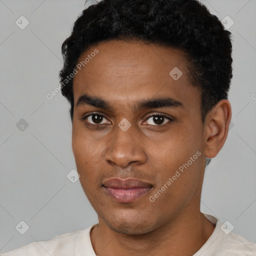
<svg viewBox="0 0 256 256">
<path fill-rule="evenodd" d="M 206 168 L 201 211 L 256 242 L 256 0 L 202 3 L 220 20 L 231 17 L 234 41 L 233 126 Z M 60 92 L 46 98 L 59 83 L 61 43 L 83 9 L 84 0 L 0 0 L 0 253 L 97 222 L 79 180 L 66 177 L 76 168 L 68 102 Z M 21 15 L 24 29 L 15 24 Z"/>
</svg>

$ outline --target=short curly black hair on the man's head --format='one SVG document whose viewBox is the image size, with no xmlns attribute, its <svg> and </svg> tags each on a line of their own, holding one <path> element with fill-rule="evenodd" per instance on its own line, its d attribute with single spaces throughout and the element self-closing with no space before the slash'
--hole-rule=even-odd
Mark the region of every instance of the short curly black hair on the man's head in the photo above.
<svg viewBox="0 0 256 256">
<path fill-rule="evenodd" d="M 80 54 L 100 41 L 138 40 L 182 49 L 191 84 L 201 91 L 201 119 L 227 98 L 232 78 L 231 33 L 197 0 L 101 0 L 85 8 L 62 44 L 61 93 L 73 119 L 73 72 Z"/>
</svg>

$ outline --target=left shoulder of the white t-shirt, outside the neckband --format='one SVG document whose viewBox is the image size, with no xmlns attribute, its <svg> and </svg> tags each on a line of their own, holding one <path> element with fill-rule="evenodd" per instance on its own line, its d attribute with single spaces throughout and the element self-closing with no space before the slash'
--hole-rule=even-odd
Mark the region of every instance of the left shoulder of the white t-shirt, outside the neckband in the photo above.
<svg viewBox="0 0 256 256">
<path fill-rule="evenodd" d="M 81 235 L 85 234 L 86 236 L 90 228 L 91 226 L 86 229 L 59 234 L 46 241 L 31 242 L 17 249 L 0 254 L 0 256 L 71 256 L 75 253 Z"/>
</svg>

